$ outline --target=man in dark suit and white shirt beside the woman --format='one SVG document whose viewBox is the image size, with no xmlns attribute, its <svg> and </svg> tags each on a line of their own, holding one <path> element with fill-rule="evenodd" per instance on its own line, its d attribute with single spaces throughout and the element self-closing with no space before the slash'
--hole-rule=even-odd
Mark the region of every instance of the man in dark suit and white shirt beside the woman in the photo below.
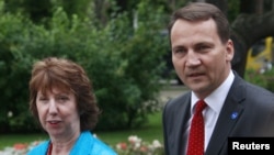
<svg viewBox="0 0 274 155">
<path fill-rule="evenodd" d="M 191 122 L 198 100 L 206 103 L 201 154 L 227 155 L 228 137 L 274 136 L 274 95 L 231 69 L 233 43 L 218 8 L 190 3 L 174 12 L 169 32 L 172 63 L 191 91 L 164 107 L 165 155 L 185 155 L 191 150 Z"/>
</svg>

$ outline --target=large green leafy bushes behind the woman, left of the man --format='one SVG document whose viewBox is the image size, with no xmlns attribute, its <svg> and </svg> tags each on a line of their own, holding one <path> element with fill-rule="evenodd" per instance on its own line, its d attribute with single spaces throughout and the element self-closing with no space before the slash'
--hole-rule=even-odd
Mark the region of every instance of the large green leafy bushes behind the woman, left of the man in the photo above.
<svg viewBox="0 0 274 155">
<path fill-rule="evenodd" d="M 3 5 L 3 4 L 2 4 Z M 168 41 L 160 35 L 161 9 L 140 4 L 138 27 L 126 13 L 105 27 L 57 8 L 45 25 L 0 8 L 0 132 L 31 131 L 28 80 L 32 64 L 48 56 L 70 58 L 87 70 L 103 113 L 98 129 L 136 128 L 159 110 L 157 95 Z M 148 13 L 149 11 L 149 13 Z M 11 114 L 12 113 L 12 114 Z"/>
</svg>

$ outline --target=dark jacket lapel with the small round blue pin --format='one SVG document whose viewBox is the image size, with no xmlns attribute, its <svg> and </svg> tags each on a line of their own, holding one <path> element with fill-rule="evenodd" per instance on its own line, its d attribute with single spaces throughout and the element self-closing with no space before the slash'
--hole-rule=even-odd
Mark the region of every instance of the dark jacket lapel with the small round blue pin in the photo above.
<svg viewBox="0 0 274 155">
<path fill-rule="evenodd" d="M 222 148 L 227 148 L 229 133 L 241 117 L 243 107 L 241 102 L 246 98 L 246 89 L 242 79 L 235 74 L 235 81 L 228 92 L 220 111 L 215 130 L 206 150 L 206 155 L 217 155 Z"/>
</svg>

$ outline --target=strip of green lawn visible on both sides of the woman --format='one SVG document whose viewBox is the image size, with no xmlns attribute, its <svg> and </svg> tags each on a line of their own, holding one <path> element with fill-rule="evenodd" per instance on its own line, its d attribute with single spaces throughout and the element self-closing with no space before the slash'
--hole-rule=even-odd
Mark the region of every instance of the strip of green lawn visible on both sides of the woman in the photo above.
<svg viewBox="0 0 274 155">
<path fill-rule="evenodd" d="M 115 146 L 119 142 L 126 142 L 129 135 L 137 135 L 147 142 L 159 140 L 162 143 L 161 112 L 150 114 L 149 123 L 144 128 L 125 131 L 96 132 L 99 139 Z M 48 135 L 43 133 L 35 134 L 5 134 L 0 135 L 0 150 L 12 146 L 16 143 L 30 143 L 33 141 L 47 140 Z"/>
</svg>

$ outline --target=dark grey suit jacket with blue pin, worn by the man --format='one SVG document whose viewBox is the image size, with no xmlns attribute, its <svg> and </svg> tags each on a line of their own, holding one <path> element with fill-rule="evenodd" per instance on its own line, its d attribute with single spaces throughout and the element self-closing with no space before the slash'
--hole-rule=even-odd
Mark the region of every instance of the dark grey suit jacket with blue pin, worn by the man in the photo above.
<svg viewBox="0 0 274 155">
<path fill-rule="evenodd" d="M 184 128 L 190 119 L 191 92 L 169 101 L 162 124 L 165 155 L 183 155 Z M 232 119 L 232 113 L 238 115 Z M 235 73 L 205 155 L 228 155 L 228 137 L 274 136 L 274 93 L 244 81 Z"/>
</svg>

